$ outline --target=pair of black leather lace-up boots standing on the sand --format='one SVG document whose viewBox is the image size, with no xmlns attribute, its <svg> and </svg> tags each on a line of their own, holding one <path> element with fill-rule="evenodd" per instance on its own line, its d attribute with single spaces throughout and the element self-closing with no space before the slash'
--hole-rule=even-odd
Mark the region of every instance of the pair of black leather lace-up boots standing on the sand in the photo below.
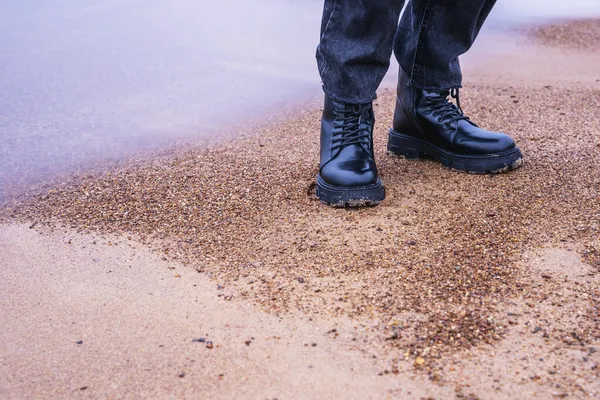
<svg viewBox="0 0 600 400">
<path fill-rule="evenodd" d="M 358 207 L 384 199 L 373 153 L 374 123 L 371 104 L 344 104 L 325 95 L 316 189 L 321 201 L 335 207 Z M 416 89 L 402 71 L 388 150 L 480 174 L 515 169 L 523 160 L 510 136 L 481 129 L 464 115 L 458 90 Z"/>
</svg>

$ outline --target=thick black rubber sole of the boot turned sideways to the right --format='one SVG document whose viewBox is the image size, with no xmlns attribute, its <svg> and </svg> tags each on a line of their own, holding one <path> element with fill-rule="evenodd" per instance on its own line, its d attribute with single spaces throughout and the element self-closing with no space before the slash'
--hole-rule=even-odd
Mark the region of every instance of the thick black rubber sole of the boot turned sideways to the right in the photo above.
<svg viewBox="0 0 600 400">
<path fill-rule="evenodd" d="M 517 147 L 497 154 L 456 154 L 393 129 L 389 133 L 388 151 L 408 159 L 432 158 L 445 167 L 473 174 L 498 174 L 519 168 L 523 164 L 523 155 Z"/>
</svg>

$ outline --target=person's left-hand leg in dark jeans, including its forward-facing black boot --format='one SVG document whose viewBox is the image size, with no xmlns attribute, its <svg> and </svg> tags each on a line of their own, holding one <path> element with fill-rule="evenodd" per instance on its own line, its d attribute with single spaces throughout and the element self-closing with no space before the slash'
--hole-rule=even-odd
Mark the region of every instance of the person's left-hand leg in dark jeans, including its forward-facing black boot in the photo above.
<svg viewBox="0 0 600 400">
<path fill-rule="evenodd" d="M 377 204 L 371 102 L 388 70 L 404 0 L 326 0 L 317 48 L 325 91 L 316 192 L 335 206 Z"/>
</svg>

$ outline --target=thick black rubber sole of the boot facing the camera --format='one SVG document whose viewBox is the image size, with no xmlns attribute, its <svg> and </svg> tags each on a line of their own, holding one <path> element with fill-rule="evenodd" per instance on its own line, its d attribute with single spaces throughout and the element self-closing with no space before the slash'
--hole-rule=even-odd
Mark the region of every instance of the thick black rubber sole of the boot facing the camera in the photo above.
<svg viewBox="0 0 600 400">
<path fill-rule="evenodd" d="M 327 184 L 317 175 L 317 197 L 332 207 L 376 206 L 385 198 L 385 187 L 381 179 L 377 183 L 363 187 L 339 187 Z"/>
</svg>

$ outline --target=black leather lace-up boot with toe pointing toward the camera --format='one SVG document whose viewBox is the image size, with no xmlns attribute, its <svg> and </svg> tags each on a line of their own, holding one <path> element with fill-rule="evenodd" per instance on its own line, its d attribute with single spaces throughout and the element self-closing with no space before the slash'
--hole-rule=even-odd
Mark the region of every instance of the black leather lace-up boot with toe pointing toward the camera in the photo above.
<svg viewBox="0 0 600 400">
<path fill-rule="evenodd" d="M 385 197 L 373 155 L 371 104 L 344 104 L 325 95 L 317 196 L 335 207 L 376 205 Z"/>
</svg>

